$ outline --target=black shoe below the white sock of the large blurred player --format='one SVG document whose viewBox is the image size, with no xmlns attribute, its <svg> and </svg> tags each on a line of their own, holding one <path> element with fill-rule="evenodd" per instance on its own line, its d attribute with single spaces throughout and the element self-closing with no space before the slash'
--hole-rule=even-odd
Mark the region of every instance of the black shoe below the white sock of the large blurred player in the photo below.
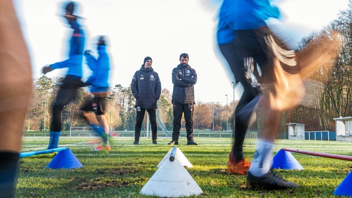
<svg viewBox="0 0 352 198">
<path fill-rule="evenodd" d="M 251 187 L 266 187 L 270 189 L 285 189 L 285 188 L 299 188 L 300 185 L 282 179 L 278 174 L 270 170 L 262 177 L 255 177 L 249 171 L 247 172 L 247 183 Z"/>
</svg>

